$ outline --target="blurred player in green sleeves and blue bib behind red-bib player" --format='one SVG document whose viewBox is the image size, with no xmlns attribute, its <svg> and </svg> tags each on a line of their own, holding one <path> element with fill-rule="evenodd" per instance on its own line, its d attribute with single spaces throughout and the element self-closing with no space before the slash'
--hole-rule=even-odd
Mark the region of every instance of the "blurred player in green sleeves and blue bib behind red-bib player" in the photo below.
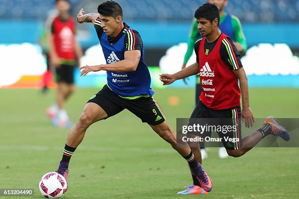
<svg viewBox="0 0 299 199">
<path fill-rule="evenodd" d="M 245 51 L 247 50 L 247 44 L 246 44 L 245 36 L 243 34 L 240 20 L 234 15 L 230 15 L 224 11 L 224 7 L 227 5 L 228 0 L 208 0 L 208 2 L 214 3 L 219 9 L 219 13 L 220 13 L 219 29 L 221 30 L 221 32 L 227 35 L 228 37 L 230 37 L 234 41 L 237 51 L 239 51 L 240 53 L 245 53 Z M 182 69 L 186 67 L 188 60 L 192 56 L 195 41 L 200 38 L 202 37 L 198 32 L 197 22 L 196 20 L 193 20 L 192 28 L 188 40 L 188 49 L 184 57 Z M 184 79 L 184 82 L 187 84 L 186 79 Z M 200 93 L 201 93 L 200 78 L 199 75 L 196 75 L 195 105 L 198 103 Z M 208 153 L 205 149 L 204 142 L 200 143 L 200 149 L 201 149 L 202 159 L 208 158 Z M 224 147 L 219 148 L 218 154 L 220 158 L 228 157 L 228 154 L 226 153 Z"/>
</svg>

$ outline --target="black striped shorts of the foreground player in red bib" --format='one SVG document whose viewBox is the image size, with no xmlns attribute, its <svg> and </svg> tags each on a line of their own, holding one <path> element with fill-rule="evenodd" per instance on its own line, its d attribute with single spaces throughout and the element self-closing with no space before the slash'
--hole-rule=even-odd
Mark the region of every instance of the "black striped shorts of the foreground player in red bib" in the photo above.
<svg viewBox="0 0 299 199">
<path fill-rule="evenodd" d="M 198 103 L 190 117 L 189 125 L 198 123 L 198 119 L 202 119 L 202 121 L 200 121 L 202 124 L 208 123 L 209 125 L 220 125 L 223 127 L 222 129 L 227 128 L 227 126 L 232 126 L 231 130 L 227 129 L 223 132 L 216 132 L 218 133 L 219 138 L 221 138 L 223 146 L 226 149 L 237 150 L 242 146 L 240 106 L 223 110 L 212 110 L 206 107 L 201 100 L 198 100 Z M 201 137 L 211 137 L 211 134 L 211 131 L 206 131 L 201 135 Z M 225 140 L 228 138 L 231 138 L 231 141 Z"/>
</svg>

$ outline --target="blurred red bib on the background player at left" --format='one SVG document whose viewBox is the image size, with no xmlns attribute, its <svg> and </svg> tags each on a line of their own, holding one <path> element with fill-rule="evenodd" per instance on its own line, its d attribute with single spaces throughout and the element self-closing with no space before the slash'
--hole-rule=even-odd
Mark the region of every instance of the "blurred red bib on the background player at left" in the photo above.
<svg viewBox="0 0 299 199">
<path fill-rule="evenodd" d="M 67 20 L 56 17 L 52 24 L 52 34 L 54 35 L 54 45 L 58 57 L 63 60 L 75 60 L 74 20 L 71 17 Z"/>
</svg>

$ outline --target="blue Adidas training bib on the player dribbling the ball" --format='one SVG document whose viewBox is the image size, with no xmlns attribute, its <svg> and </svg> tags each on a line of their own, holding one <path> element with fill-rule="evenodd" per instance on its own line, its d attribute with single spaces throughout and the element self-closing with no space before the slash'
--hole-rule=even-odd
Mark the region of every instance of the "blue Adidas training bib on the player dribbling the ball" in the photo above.
<svg viewBox="0 0 299 199">
<path fill-rule="evenodd" d="M 123 34 L 120 40 L 115 44 L 109 43 L 108 36 L 106 33 L 103 33 L 100 42 L 107 64 L 125 59 L 126 46 L 124 44 L 124 39 L 127 35 L 127 31 L 132 31 L 132 29 L 129 27 L 128 29 L 124 29 L 124 31 L 126 31 L 126 33 Z M 129 32 L 129 34 L 130 33 L 131 32 Z M 131 36 L 133 37 L 132 34 Z M 150 88 L 149 69 L 144 62 L 143 46 L 136 71 L 125 73 L 107 71 L 107 85 L 114 93 L 126 98 L 132 97 L 132 99 L 135 99 L 137 97 L 150 97 L 154 94 Z"/>
</svg>

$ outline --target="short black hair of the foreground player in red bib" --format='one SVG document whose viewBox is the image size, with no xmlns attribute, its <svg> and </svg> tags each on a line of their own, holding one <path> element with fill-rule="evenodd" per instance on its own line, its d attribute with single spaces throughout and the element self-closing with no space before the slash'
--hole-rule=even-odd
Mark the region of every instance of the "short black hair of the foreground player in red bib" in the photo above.
<svg viewBox="0 0 299 199">
<path fill-rule="evenodd" d="M 218 26 L 220 22 L 219 9 L 212 3 L 205 3 L 200 6 L 194 13 L 194 17 L 198 20 L 199 18 L 205 18 L 211 23 L 214 19 L 218 19 Z"/>
</svg>

